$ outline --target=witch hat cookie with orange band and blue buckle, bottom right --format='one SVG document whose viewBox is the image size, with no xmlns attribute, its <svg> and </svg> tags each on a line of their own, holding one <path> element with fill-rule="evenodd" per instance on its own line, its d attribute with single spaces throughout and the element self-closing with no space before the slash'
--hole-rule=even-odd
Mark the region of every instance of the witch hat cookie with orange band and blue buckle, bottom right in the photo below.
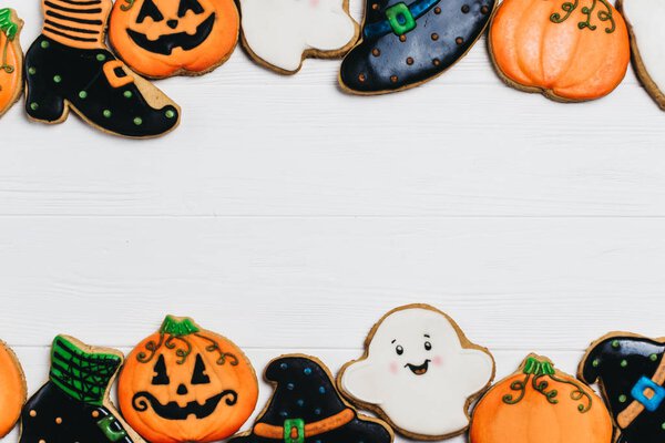
<svg viewBox="0 0 665 443">
<path fill-rule="evenodd" d="M 598 383 L 620 432 L 620 443 L 665 440 L 665 339 L 612 332 L 595 341 L 580 378 Z"/>
</svg>

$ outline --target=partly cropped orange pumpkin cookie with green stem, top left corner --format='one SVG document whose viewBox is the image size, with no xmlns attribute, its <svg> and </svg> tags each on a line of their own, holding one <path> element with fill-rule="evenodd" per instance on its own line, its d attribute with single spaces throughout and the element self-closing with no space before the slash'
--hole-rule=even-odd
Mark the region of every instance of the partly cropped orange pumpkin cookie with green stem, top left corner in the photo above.
<svg viewBox="0 0 665 443">
<path fill-rule="evenodd" d="M 19 42 L 22 27 L 17 11 L 0 9 L 0 116 L 23 92 L 23 51 Z"/>
</svg>

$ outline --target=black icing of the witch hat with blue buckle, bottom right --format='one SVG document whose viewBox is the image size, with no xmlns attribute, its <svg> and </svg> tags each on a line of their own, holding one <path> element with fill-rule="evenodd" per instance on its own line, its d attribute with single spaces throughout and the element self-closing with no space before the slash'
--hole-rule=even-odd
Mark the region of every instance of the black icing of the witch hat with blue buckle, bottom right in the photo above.
<svg viewBox="0 0 665 443">
<path fill-rule="evenodd" d="M 582 381 L 598 382 L 603 398 L 615 418 L 635 398 L 633 387 L 640 379 L 652 379 L 661 364 L 665 344 L 646 338 L 613 337 L 594 346 L 581 368 Z M 665 402 L 654 412 L 644 410 L 626 429 L 620 430 L 623 443 L 665 441 Z"/>
</svg>

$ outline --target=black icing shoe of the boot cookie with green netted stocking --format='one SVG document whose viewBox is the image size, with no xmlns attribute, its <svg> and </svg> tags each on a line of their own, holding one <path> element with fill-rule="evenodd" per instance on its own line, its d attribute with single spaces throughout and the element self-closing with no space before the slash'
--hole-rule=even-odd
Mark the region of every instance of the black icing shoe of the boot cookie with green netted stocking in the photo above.
<svg viewBox="0 0 665 443">
<path fill-rule="evenodd" d="M 100 422 L 110 422 L 106 433 Z M 19 443 L 133 443 L 111 411 L 74 400 L 53 382 L 44 384 L 28 400 L 21 424 Z"/>
</svg>

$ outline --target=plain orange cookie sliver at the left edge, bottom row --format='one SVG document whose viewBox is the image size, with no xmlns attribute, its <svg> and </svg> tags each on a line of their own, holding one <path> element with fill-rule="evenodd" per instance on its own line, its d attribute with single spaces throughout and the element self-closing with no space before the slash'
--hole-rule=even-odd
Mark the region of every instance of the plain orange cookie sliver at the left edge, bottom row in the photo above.
<svg viewBox="0 0 665 443">
<path fill-rule="evenodd" d="M 25 377 L 13 351 L 0 341 L 0 437 L 12 430 L 25 402 Z"/>
</svg>

